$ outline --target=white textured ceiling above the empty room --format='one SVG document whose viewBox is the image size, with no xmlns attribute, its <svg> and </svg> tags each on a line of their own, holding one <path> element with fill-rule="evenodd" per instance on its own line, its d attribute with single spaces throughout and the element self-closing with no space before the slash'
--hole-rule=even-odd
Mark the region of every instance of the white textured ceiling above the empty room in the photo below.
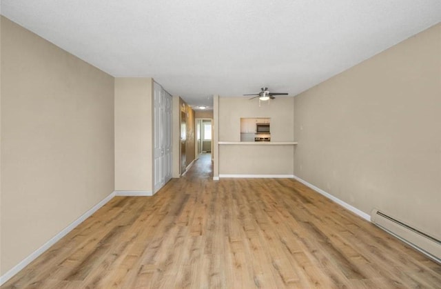
<svg viewBox="0 0 441 289">
<path fill-rule="evenodd" d="M 440 0 L 1 0 L 1 14 L 114 77 L 190 105 L 296 95 L 441 21 Z"/>
</svg>

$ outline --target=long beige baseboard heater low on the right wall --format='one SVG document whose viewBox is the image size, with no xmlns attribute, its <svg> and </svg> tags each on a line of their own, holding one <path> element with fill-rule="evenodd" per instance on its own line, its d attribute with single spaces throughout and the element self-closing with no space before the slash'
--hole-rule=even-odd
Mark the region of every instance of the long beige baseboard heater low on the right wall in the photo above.
<svg viewBox="0 0 441 289">
<path fill-rule="evenodd" d="M 431 259 L 441 263 L 441 241 L 421 232 L 417 228 L 395 219 L 384 212 L 373 209 L 371 212 L 371 221 L 377 226 L 391 233 L 398 239 L 408 243 L 414 248 L 420 250 Z"/>
</svg>

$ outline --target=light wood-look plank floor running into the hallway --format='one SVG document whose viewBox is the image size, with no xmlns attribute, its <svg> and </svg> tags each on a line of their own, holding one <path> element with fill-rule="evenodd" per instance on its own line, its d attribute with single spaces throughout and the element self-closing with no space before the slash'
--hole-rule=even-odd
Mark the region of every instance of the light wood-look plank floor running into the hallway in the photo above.
<svg viewBox="0 0 441 289">
<path fill-rule="evenodd" d="M 441 266 L 293 179 L 115 197 L 2 288 L 441 288 Z"/>
</svg>

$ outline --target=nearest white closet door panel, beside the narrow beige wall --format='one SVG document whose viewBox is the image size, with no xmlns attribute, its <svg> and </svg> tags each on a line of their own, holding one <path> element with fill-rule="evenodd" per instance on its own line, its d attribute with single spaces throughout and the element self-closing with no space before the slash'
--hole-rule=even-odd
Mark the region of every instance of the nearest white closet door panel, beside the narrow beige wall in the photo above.
<svg viewBox="0 0 441 289">
<path fill-rule="evenodd" d="M 158 83 L 154 83 L 154 192 L 165 184 L 165 94 Z"/>
</svg>

